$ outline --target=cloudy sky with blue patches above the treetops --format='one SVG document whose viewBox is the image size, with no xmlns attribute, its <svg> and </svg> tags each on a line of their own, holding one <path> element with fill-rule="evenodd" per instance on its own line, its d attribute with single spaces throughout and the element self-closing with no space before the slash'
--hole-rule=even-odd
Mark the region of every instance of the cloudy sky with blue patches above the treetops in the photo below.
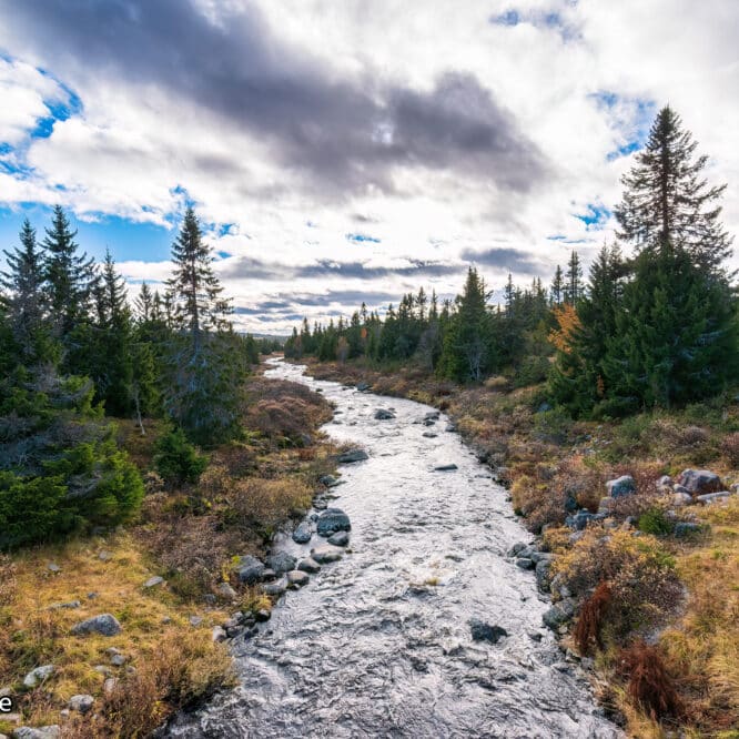
<svg viewBox="0 0 739 739">
<path fill-rule="evenodd" d="M 499 295 L 614 239 L 665 104 L 736 234 L 737 38 L 736 0 L 0 0 L 0 249 L 60 203 L 134 297 L 192 204 L 242 331 Z"/>
</svg>

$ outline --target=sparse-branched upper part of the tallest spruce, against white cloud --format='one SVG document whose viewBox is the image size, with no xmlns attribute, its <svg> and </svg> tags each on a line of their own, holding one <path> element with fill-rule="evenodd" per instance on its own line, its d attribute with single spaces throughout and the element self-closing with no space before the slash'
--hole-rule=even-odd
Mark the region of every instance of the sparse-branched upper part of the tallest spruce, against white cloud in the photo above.
<svg viewBox="0 0 739 739">
<path fill-rule="evenodd" d="M 718 273 L 732 242 L 719 221 L 726 184 L 708 185 L 708 156 L 696 156 L 697 146 L 680 117 L 669 105 L 662 108 L 645 149 L 621 180 L 626 190 L 615 215 L 619 237 L 637 253 L 669 242 L 696 266 Z"/>
</svg>

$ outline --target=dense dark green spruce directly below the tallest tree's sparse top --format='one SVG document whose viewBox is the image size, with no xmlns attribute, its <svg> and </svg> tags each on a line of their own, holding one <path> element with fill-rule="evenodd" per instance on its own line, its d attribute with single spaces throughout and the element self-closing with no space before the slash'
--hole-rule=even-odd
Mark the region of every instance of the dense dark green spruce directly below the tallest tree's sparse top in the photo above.
<svg viewBox="0 0 739 739">
<path fill-rule="evenodd" d="M 720 392 L 739 367 L 735 310 L 721 283 L 669 243 L 656 254 L 642 251 L 603 366 L 608 413 Z"/>
</svg>

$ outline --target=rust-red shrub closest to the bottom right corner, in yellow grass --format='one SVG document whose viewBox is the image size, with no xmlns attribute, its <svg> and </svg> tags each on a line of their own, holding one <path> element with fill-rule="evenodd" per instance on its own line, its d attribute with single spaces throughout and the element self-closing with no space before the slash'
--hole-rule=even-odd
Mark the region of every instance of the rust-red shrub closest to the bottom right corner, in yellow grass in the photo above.
<svg viewBox="0 0 739 739">
<path fill-rule="evenodd" d="M 639 641 L 621 650 L 618 671 L 632 703 L 654 720 L 681 716 L 682 701 L 657 647 Z"/>
</svg>

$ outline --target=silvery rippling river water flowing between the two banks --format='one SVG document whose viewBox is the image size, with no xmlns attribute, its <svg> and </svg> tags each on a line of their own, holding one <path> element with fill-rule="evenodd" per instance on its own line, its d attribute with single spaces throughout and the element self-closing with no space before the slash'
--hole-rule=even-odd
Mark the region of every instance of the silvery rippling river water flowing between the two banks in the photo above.
<svg viewBox="0 0 739 739">
<path fill-rule="evenodd" d="M 370 458 L 332 489 L 352 520 L 351 553 L 288 591 L 233 651 L 241 684 L 181 715 L 171 737 L 616 738 L 579 669 L 541 625 L 534 574 L 506 558 L 530 536 L 489 470 L 432 408 L 303 376 L 336 406 L 325 431 Z M 377 408 L 395 418 L 376 421 Z M 415 423 L 414 423 L 415 422 Z M 429 438 L 424 433 L 437 436 Z M 456 464 L 453 472 L 434 467 Z M 307 554 L 284 535 L 277 548 Z M 469 619 L 502 626 L 473 641 Z"/>
</svg>

